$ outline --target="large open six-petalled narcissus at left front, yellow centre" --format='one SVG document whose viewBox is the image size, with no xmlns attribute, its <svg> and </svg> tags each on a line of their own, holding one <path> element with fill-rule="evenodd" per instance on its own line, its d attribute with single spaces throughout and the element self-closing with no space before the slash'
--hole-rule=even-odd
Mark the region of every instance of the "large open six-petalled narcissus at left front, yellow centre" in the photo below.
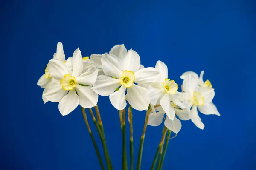
<svg viewBox="0 0 256 170">
<path fill-rule="evenodd" d="M 49 72 L 53 80 L 45 87 L 44 96 L 51 102 L 59 102 L 58 108 L 63 116 L 72 112 L 78 104 L 84 108 L 97 105 L 98 94 L 92 90 L 92 86 L 96 81 L 98 69 L 91 67 L 82 73 L 82 61 L 79 48 L 73 53 L 72 72 L 61 61 L 49 61 Z"/>
</svg>

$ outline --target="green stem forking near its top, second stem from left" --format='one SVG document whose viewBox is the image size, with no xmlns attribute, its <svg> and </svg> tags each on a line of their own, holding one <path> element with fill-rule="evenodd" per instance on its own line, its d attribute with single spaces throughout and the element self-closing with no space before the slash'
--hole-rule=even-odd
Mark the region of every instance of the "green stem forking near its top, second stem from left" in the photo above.
<svg viewBox="0 0 256 170">
<path fill-rule="evenodd" d="M 97 123 L 97 121 L 96 121 L 96 119 L 95 119 L 95 117 L 93 115 L 92 109 L 89 108 L 89 110 L 90 110 L 90 114 L 93 117 L 93 122 L 94 122 L 94 124 L 96 126 L 96 129 L 97 129 L 97 131 L 99 133 L 100 140 L 102 142 L 102 146 L 103 146 L 104 155 L 105 155 L 105 159 L 106 159 L 108 170 L 113 170 L 113 167 L 112 167 L 112 164 L 111 164 L 111 160 L 110 160 L 110 157 L 109 157 L 109 154 L 108 154 L 108 148 L 107 148 L 107 144 L 106 144 L 103 124 L 102 124 L 102 121 L 101 121 L 101 118 L 100 118 L 100 115 L 99 115 L 99 109 L 98 109 L 98 107 L 96 108 L 96 106 L 95 106 L 98 123 Z"/>
</svg>

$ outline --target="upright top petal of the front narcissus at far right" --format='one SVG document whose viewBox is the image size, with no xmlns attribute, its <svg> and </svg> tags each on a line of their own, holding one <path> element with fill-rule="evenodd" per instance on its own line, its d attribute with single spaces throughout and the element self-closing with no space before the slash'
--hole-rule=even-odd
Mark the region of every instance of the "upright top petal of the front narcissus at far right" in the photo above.
<svg viewBox="0 0 256 170">
<path fill-rule="evenodd" d="M 189 93 L 192 96 L 194 91 L 198 91 L 198 80 L 194 76 L 189 75 L 183 80 L 183 89 L 184 92 Z"/>
</svg>

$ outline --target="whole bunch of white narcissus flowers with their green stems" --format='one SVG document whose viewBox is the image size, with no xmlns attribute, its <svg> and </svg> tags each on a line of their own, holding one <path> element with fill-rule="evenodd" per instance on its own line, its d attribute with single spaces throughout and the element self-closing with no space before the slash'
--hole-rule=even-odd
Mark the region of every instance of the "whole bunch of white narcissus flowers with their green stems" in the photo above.
<svg viewBox="0 0 256 170">
<path fill-rule="evenodd" d="M 128 122 L 131 133 L 131 170 L 133 169 L 132 109 L 146 110 L 137 170 L 140 170 L 147 125 L 158 126 L 164 119 L 163 136 L 151 166 L 152 170 L 155 167 L 161 170 L 171 132 L 177 136 L 181 129 L 180 120 L 191 119 L 198 128 L 204 129 L 198 110 L 206 115 L 220 116 L 216 106 L 212 103 L 215 95 L 212 84 L 209 80 L 203 81 L 203 74 L 204 71 L 199 77 L 192 71 L 182 74 L 180 78 L 183 79 L 183 84 L 181 92 L 178 92 L 178 85 L 168 78 L 168 68 L 163 62 L 157 61 L 154 68 L 145 68 L 140 63 L 139 54 L 132 49 L 127 51 L 124 45 L 115 45 L 109 53 L 92 54 L 90 57 L 82 57 L 81 51 L 77 48 L 73 57 L 65 60 L 63 45 L 59 42 L 53 59 L 47 64 L 45 74 L 40 77 L 37 84 L 44 88 L 42 95 L 44 103 L 59 102 L 58 108 L 63 116 L 71 113 L 78 105 L 81 106 L 102 169 L 104 169 L 104 164 L 85 112 L 85 108 L 88 108 L 102 142 L 107 169 L 112 170 L 97 105 L 98 95 L 109 96 L 111 104 L 119 111 L 123 138 L 122 170 L 128 169 L 125 142 L 127 102 L 129 103 Z M 97 120 L 91 109 L 93 107 Z"/>
</svg>

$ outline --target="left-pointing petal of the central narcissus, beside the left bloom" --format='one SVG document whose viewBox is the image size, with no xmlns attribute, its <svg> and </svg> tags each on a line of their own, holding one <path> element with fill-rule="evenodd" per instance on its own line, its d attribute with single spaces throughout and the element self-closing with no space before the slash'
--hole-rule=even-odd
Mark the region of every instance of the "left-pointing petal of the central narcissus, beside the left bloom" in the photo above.
<svg viewBox="0 0 256 170">
<path fill-rule="evenodd" d="M 101 96 L 109 96 L 119 86 L 119 79 L 114 79 L 107 75 L 99 75 L 93 85 L 93 90 Z"/>
</svg>

